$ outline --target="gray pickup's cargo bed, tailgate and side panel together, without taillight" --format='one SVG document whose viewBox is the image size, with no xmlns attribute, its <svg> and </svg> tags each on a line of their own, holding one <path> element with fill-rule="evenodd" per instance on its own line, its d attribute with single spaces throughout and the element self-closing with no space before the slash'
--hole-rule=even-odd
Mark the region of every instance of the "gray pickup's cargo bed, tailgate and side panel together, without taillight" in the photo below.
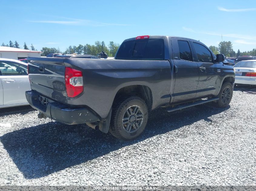
<svg viewBox="0 0 256 191">
<path fill-rule="evenodd" d="M 82 71 L 84 91 L 67 97 L 65 67 Z M 152 91 L 152 109 L 170 101 L 171 65 L 167 60 L 107 60 L 28 57 L 31 89 L 71 106 L 86 106 L 104 119 L 122 87 L 145 85 Z M 44 71 L 39 71 L 41 69 Z M 163 96 L 165 95 L 165 96 Z"/>
</svg>

